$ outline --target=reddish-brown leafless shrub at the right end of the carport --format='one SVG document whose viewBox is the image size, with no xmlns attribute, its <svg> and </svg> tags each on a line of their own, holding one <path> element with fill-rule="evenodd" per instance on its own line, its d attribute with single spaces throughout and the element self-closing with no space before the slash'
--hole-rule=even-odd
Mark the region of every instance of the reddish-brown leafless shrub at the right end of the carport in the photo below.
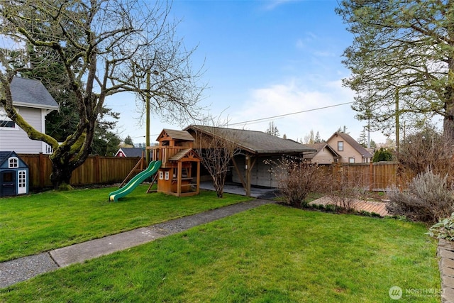
<svg viewBox="0 0 454 303">
<path fill-rule="evenodd" d="M 318 192 L 326 180 L 326 174 L 319 165 L 300 158 L 285 157 L 267 163 L 273 165 L 271 172 L 277 177 L 284 202 L 291 206 L 307 206 L 307 195 Z"/>
</svg>

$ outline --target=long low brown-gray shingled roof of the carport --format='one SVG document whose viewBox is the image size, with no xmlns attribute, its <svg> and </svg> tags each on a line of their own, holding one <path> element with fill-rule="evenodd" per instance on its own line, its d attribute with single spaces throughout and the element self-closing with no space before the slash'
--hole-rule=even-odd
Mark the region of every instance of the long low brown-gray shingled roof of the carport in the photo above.
<svg viewBox="0 0 454 303">
<path fill-rule="evenodd" d="M 222 138 L 236 142 L 243 150 L 248 150 L 250 153 L 255 154 L 305 153 L 315 151 L 313 148 L 308 148 L 295 141 L 272 136 L 262 131 L 246 131 L 244 129 L 196 125 L 184 128 L 185 131 L 189 129 L 221 136 Z"/>
</svg>

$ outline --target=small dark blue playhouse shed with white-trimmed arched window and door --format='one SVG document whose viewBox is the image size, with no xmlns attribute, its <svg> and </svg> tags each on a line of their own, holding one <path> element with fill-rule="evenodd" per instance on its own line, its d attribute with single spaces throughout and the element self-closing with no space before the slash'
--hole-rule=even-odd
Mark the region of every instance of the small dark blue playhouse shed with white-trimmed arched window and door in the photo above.
<svg viewBox="0 0 454 303">
<path fill-rule="evenodd" d="M 0 151 L 0 197 L 28 194 L 28 165 L 13 151 Z"/>
</svg>

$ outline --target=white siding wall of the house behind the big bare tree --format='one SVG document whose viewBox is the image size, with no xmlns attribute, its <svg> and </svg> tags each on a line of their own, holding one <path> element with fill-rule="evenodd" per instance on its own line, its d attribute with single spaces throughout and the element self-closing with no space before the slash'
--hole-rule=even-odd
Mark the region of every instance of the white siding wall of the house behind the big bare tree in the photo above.
<svg viewBox="0 0 454 303">
<path fill-rule="evenodd" d="M 36 130 L 43 131 L 41 109 L 18 107 L 19 113 Z M 43 143 L 30 140 L 25 131 L 21 128 L 0 128 L 0 150 L 16 153 L 42 153 Z"/>
</svg>

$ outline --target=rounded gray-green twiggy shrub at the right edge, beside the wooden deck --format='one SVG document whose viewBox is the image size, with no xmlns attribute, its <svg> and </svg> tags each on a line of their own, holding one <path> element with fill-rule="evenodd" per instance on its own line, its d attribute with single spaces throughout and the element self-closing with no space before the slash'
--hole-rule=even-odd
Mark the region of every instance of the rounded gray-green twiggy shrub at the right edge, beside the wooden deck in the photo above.
<svg viewBox="0 0 454 303">
<path fill-rule="evenodd" d="M 448 185 L 448 175 L 441 177 L 430 168 L 413 178 L 407 192 L 390 187 L 387 194 L 387 211 L 414 221 L 434 223 L 453 212 L 454 195 Z"/>
</svg>

